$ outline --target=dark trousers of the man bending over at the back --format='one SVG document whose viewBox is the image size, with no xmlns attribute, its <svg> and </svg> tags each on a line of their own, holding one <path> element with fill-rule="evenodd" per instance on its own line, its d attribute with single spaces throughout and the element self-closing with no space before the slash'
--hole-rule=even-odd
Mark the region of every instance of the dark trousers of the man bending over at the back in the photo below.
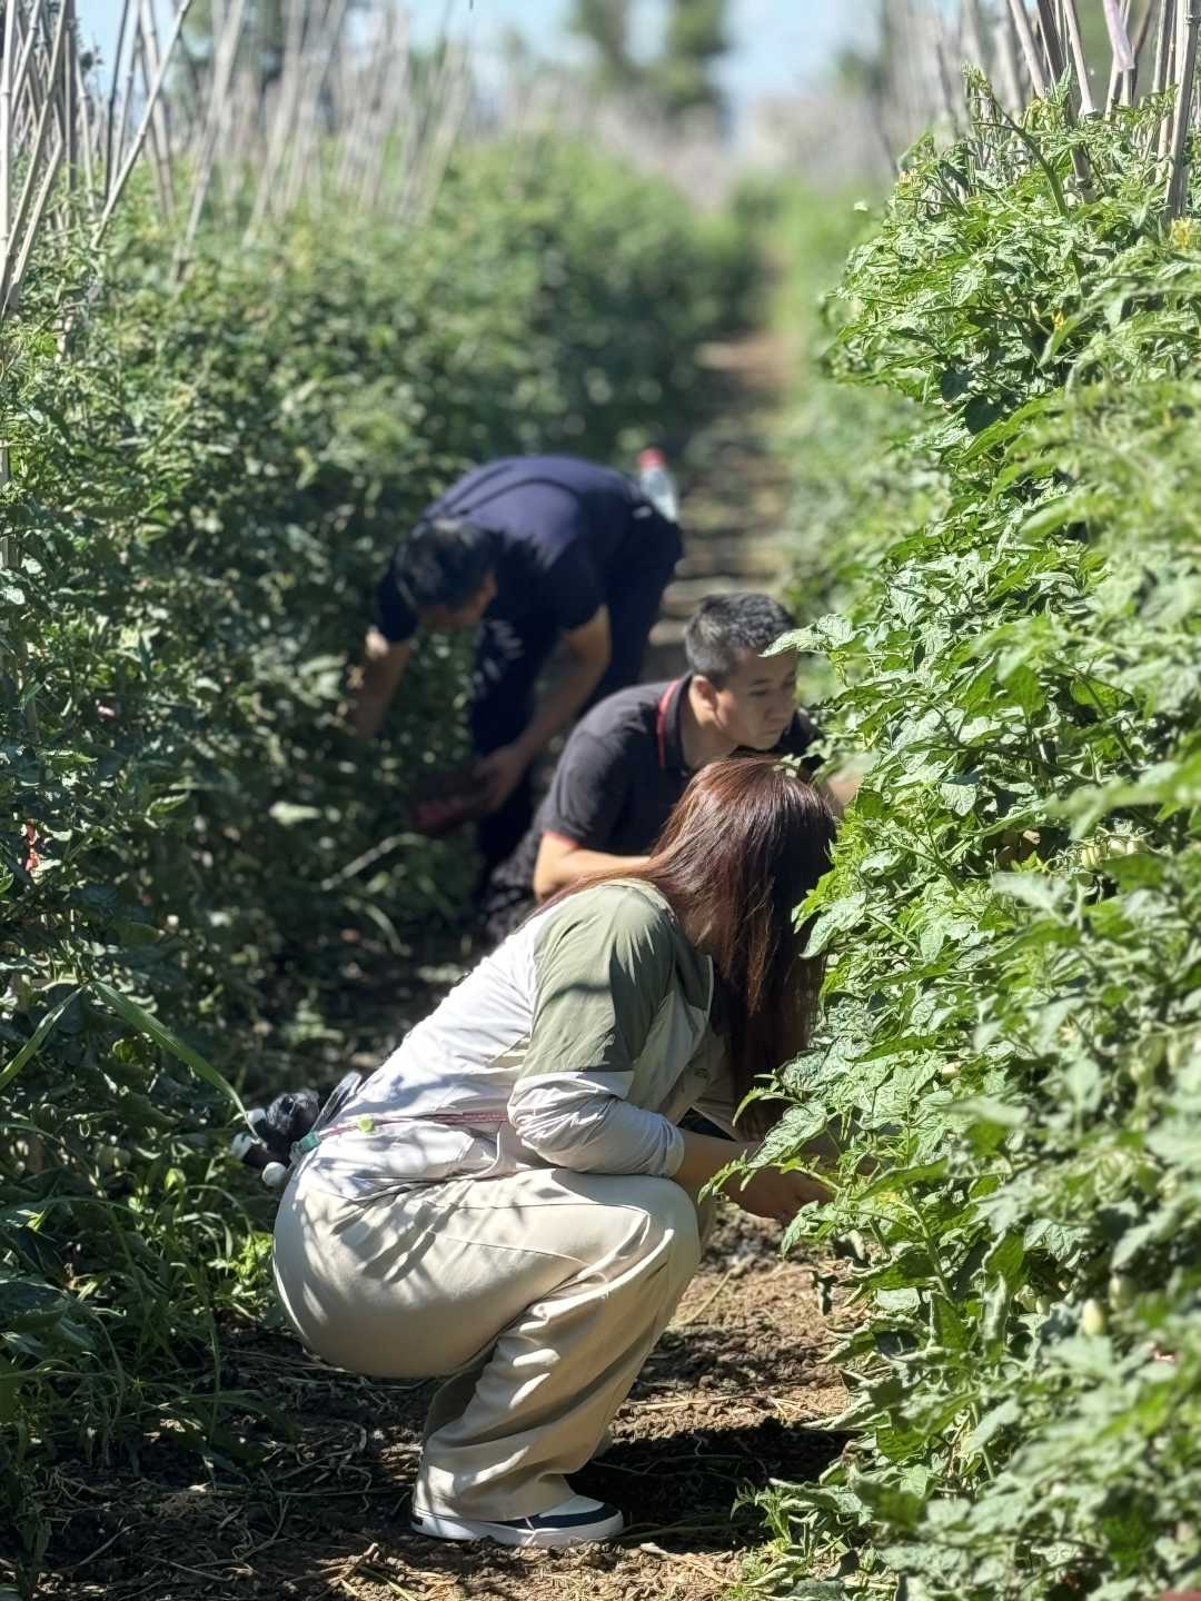
<svg viewBox="0 0 1201 1601">
<path fill-rule="evenodd" d="M 626 552 L 620 567 L 605 575 L 610 658 L 583 711 L 605 695 L 637 684 L 663 591 L 684 549 L 676 524 L 655 511 L 639 519 L 637 530 L 633 554 Z M 511 744 L 528 724 L 538 674 L 546 666 L 556 639 L 557 631 L 546 618 L 532 616 L 520 626 L 484 620 L 471 701 L 471 740 L 480 756 Z M 517 849 L 532 821 L 533 784 L 525 773 L 504 805 L 479 825 L 485 877 Z"/>
</svg>

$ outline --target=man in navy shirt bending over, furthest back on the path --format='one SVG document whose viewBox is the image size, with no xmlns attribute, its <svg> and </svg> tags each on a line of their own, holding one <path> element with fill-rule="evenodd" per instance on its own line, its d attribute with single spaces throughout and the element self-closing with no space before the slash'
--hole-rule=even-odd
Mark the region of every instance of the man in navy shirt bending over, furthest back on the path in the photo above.
<svg viewBox="0 0 1201 1601">
<path fill-rule="evenodd" d="M 681 535 L 642 490 L 575 456 L 512 456 L 468 472 L 424 512 L 380 584 L 355 727 L 383 722 L 421 628 L 479 626 L 471 732 L 488 815 L 485 863 L 533 815 L 530 762 L 589 703 L 633 684 Z M 559 639 L 562 680 L 535 704 Z"/>
</svg>

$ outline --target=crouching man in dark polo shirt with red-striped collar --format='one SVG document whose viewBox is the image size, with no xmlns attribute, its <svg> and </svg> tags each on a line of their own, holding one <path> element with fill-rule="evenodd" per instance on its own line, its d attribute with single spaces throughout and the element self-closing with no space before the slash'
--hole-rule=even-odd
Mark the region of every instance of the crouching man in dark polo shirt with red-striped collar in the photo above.
<svg viewBox="0 0 1201 1601">
<path fill-rule="evenodd" d="M 769 596 L 703 600 L 684 634 L 685 677 L 621 690 L 576 724 L 533 826 L 488 881 L 488 938 L 591 873 L 641 865 L 706 762 L 738 749 L 805 759 L 818 732 L 796 708 L 796 656 L 762 655 L 794 626 Z"/>
</svg>

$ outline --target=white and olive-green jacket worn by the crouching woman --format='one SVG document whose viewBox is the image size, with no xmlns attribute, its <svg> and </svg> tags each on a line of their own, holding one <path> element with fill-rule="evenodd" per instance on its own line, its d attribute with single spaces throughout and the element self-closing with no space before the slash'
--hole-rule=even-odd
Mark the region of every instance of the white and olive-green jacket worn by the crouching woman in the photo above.
<svg viewBox="0 0 1201 1601">
<path fill-rule="evenodd" d="M 367 1196 L 527 1167 L 676 1172 L 690 1106 L 730 1127 L 713 964 L 620 879 L 538 913 L 367 1079 L 298 1170 Z"/>
</svg>

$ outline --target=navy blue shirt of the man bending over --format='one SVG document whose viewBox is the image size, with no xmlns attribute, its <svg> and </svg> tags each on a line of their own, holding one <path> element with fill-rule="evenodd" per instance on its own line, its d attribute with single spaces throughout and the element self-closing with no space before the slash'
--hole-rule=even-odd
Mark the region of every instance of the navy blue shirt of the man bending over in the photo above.
<svg viewBox="0 0 1201 1601">
<path fill-rule="evenodd" d="M 484 615 L 524 634 L 535 621 L 552 632 L 583 628 L 655 511 L 613 467 L 578 456 L 508 456 L 468 472 L 424 517 L 464 517 L 500 535 L 496 596 Z M 413 613 L 391 570 L 378 604 L 383 636 L 412 639 Z"/>
</svg>

